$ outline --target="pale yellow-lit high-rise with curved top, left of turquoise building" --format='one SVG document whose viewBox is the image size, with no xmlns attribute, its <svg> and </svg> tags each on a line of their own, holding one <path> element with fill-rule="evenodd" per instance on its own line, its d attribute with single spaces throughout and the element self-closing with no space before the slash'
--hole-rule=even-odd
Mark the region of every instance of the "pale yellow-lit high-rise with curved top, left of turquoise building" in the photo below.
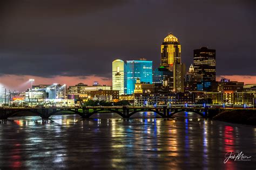
<svg viewBox="0 0 256 170">
<path fill-rule="evenodd" d="M 127 93 L 126 63 L 123 60 L 112 62 L 112 89 L 118 90 L 119 95 Z"/>
</svg>

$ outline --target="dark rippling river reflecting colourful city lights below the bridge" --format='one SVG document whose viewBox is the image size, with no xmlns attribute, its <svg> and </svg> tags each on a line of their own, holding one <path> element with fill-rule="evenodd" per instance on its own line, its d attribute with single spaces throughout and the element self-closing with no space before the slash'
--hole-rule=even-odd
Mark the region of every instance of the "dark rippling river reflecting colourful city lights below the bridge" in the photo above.
<svg viewBox="0 0 256 170">
<path fill-rule="evenodd" d="M 1 122 L 1 121 L 0 121 Z M 248 160 L 229 159 L 242 152 Z M 0 169 L 255 169 L 256 127 L 139 112 L 11 117 L 0 124 Z"/>
</svg>

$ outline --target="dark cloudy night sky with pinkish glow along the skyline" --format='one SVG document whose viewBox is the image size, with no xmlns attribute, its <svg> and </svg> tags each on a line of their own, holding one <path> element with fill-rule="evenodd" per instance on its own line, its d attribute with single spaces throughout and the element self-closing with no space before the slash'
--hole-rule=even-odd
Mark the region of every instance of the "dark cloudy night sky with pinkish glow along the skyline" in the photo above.
<svg viewBox="0 0 256 170">
<path fill-rule="evenodd" d="M 207 46 L 216 49 L 218 78 L 256 83 L 255 11 L 254 0 L 1 1 L 0 81 L 111 84 L 114 59 L 158 67 L 172 32 L 187 67 L 193 49 Z"/>
</svg>

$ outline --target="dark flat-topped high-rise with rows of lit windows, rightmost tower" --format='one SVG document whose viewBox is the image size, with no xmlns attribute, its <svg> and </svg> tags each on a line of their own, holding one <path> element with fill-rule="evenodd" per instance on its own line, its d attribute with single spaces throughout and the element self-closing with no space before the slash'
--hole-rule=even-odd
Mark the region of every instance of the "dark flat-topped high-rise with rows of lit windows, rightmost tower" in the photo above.
<svg viewBox="0 0 256 170">
<path fill-rule="evenodd" d="M 194 49 L 194 72 L 203 75 L 204 82 L 216 81 L 215 49 Z"/>
</svg>

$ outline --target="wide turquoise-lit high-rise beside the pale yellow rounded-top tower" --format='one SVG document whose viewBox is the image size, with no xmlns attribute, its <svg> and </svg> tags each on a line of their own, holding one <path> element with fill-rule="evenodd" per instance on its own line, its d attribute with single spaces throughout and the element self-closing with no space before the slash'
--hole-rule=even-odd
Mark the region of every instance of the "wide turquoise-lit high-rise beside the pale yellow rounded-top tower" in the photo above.
<svg viewBox="0 0 256 170">
<path fill-rule="evenodd" d="M 152 84 L 152 61 L 146 59 L 127 61 L 127 94 L 133 94 L 137 79 Z"/>
</svg>

